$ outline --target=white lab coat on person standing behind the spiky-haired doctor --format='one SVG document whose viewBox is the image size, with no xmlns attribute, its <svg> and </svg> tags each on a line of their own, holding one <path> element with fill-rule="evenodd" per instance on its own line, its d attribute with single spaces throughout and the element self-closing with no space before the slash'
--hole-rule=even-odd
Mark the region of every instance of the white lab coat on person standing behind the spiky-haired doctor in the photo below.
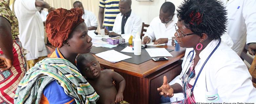
<svg viewBox="0 0 256 104">
<path fill-rule="evenodd" d="M 227 32 L 235 43 L 232 49 L 240 55 L 245 42 L 256 42 L 256 0 L 229 0 L 226 9 Z"/>
</svg>

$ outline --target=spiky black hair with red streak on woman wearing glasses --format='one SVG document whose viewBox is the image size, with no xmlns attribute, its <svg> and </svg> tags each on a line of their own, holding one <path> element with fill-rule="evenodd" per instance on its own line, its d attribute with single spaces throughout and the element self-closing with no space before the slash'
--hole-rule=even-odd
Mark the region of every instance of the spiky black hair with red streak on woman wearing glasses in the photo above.
<svg viewBox="0 0 256 104">
<path fill-rule="evenodd" d="M 226 32 L 227 12 L 218 0 L 184 0 L 177 9 L 179 21 L 195 34 L 219 39 Z"/>
</svg>

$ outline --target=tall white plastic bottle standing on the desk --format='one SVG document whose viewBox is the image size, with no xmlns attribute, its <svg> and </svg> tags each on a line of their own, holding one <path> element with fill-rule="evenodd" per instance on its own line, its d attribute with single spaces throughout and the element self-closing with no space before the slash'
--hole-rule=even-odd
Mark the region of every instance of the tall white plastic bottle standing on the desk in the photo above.
<svg viewBox="0 0 256 104">
<path fill-rule="evenodd" d="M 137 32 L 134 39 L 134 55 L 140 55 L 140 54 L 141 54 L 141 39 L 140 39 L 140 33 Z"/>
</svg>

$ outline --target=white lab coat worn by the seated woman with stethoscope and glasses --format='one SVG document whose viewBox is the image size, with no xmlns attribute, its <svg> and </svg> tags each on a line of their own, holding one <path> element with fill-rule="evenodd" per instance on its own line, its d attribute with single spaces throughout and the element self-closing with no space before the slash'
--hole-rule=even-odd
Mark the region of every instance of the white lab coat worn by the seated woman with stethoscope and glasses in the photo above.
<svg viewBox="0 0 256 104">
<path fill-rule="evenodd" d="M 211 41 L 199 54 L 200 60 L 195 67 L 196 76 L 203 66 L 206 58 L 217 46 L 219 40 Z M 193 48 L 187 48 L 182 66 L 188 53 Z M 192 54 L 192 53 L 191 53 Z M 194 53 L 196 55 L 196 53 Z M 190 58 L 188 58 L 190 59 Z M 185 69 L 182 69 L 185 71 Z M 207 102 L 205 93 L 206 83 L 208 92 L 218 90 L 223 102 L 256 102 L 256 89 L 252 85 L 252 77 L 245 63 L 223 41 L 205 64 L 194 88 L 196 102 Z M 181 80 L 176 80 L 181 84 Z M 181 84 L 182 86 L 182 84 Z M 174 94 L 175 95 L 175 94 Z"/>
</svg>

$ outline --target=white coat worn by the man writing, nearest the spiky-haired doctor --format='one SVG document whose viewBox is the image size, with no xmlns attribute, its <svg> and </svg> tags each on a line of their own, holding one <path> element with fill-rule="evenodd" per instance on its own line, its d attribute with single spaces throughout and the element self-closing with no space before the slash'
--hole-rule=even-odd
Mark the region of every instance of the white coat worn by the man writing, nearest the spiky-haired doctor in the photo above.
<svg viewBox="0 0 256 104">
<path fill-rule="evenodd" d="M 165 23 L 162 23 L 159 16 L 157 16 L 150 22 L 144 37 L 148 36 L 151 42 L 159 38 L 168 38 L 168 40 L 171 40 L 176 32 L 174 23 L 177 23 L 177 21 L 177 15 L 174 15 L 172 20 L 168 22 L 170 24 L 166 28 Z"/>
</svg>

